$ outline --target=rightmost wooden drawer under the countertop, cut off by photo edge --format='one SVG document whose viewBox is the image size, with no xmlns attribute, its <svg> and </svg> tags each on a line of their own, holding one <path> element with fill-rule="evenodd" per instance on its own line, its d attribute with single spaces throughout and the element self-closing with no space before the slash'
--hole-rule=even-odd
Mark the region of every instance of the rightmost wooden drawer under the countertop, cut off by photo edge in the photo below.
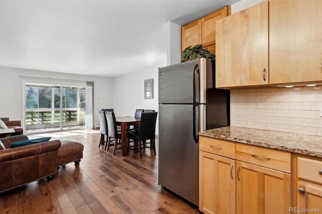
<svg viewBox="0 0 322 214">
<path fill-rule="evenodd" d="M 300 179 L 306 179 L 322 184 L 322 161 L 297 158 L 297 177 Z"/>
</svg>

